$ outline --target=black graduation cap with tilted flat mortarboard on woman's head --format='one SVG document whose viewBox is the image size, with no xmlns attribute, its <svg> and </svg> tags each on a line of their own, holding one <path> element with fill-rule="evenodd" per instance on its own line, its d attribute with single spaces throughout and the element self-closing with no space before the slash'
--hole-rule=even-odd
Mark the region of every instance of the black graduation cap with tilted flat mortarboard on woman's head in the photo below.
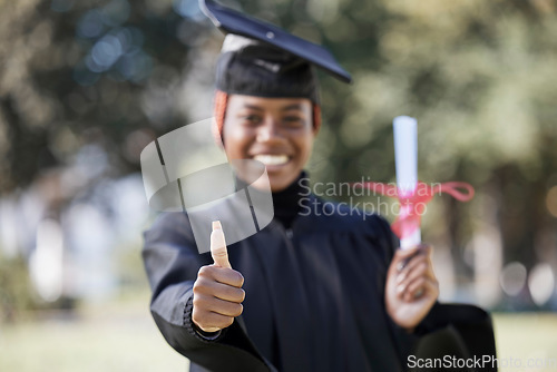
<svg viewBox="0 0 557 372">
<path fill-rule="evenodd" d="M 325 48 L 213 0 L 199 0 L 199 4 L 227 33 L 216 67 L 217 89 L 258 97 L 309 98 L 319 104 L 313 66 L 344 82 L 352 81 Z"/>
</svg>

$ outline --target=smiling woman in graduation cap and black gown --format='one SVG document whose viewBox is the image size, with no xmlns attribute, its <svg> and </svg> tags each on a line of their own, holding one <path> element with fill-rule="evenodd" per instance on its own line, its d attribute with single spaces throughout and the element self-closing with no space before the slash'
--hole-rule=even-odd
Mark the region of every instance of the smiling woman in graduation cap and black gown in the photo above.
<svg viewBox="0 0 557 372">
<path fill-rule="evenodd" d="M 190 371 L 404 370 L 438 325 L 431 247 L 397 249 L 383 218 L 320 213 L 322 200 L 304 196 L 321 125 L 312 63 L 348 75 L 316 46 L 206 6 L 244 35 L 226 37 L 217 63 L 216 133 L 228 159 L 265 165 L 275 216 L 213 257 L 197 253 L 187 215 L 162 216 L 144 248 L 158 327 Z"/>
</svg>

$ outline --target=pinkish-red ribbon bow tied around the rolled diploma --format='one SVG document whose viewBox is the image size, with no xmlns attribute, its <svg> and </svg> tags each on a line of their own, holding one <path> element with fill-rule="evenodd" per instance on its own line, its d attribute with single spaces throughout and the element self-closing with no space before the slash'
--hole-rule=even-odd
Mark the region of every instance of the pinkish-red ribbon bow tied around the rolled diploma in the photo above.
<svg viewBox="0 0 557 372">
<path fill-rule="evenodd" d="M 433 195 L 446 193 L 459 202 L 469 202 L 475 193 L 470 184 L 459 182 L 436 184 L 434 186 L 418 182 L 416 190 L 410 195 L 401 195 L 395 185 L 372 182 L 355 183 L 353 185 L 399 199 L 399 215 L 391 225 L 392 231 L 399 238 L 408 237 L 416 229 L 420 228 L 421 215 L 426 212 L 426 206 L 431 202 Z"/>
</svg>

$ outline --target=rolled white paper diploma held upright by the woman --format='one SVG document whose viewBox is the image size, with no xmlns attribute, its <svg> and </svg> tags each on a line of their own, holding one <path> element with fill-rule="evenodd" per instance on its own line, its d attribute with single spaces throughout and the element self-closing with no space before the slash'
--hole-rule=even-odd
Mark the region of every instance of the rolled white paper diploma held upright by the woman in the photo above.
<svg viewBox="0 0 557 372">
<path fill-rule="evenodd" d="M 393 123 L 394 161 L 397 165 L 397 187 L 399 195 L 409 196 L 418 184 L 418 121 L 409 116 L 398 116 Z M 403 208 L 404 206 L 400 206 Z M 405 249 L 421 242 L 420 226 L 409 236 L 400 239 Z"/>
</svg>

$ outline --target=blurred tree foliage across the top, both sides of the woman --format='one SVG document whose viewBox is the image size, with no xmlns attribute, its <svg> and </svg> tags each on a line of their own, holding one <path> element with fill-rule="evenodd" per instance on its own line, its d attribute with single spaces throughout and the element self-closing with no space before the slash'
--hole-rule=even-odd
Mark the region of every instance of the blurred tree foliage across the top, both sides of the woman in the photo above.
<svg viewBox="0 0 557 372">
<path fill-rule="evenodd" d="M 314 178 L 393 180 L 392 118 L 417 117 L 420 178 L 478 192 L 427 227 L 463 254 L 492 212 L 506 261 L 556 264 L 555 0 L 222 2 L 326 45 L 352 72 L 351 86 L 322 79 Z M 110 172 L 137 172 L 146 144 L 211 115 L 221 41 L 196 0 L 0 1 L 0 192 L 88 144 Z"/>
</svg>

